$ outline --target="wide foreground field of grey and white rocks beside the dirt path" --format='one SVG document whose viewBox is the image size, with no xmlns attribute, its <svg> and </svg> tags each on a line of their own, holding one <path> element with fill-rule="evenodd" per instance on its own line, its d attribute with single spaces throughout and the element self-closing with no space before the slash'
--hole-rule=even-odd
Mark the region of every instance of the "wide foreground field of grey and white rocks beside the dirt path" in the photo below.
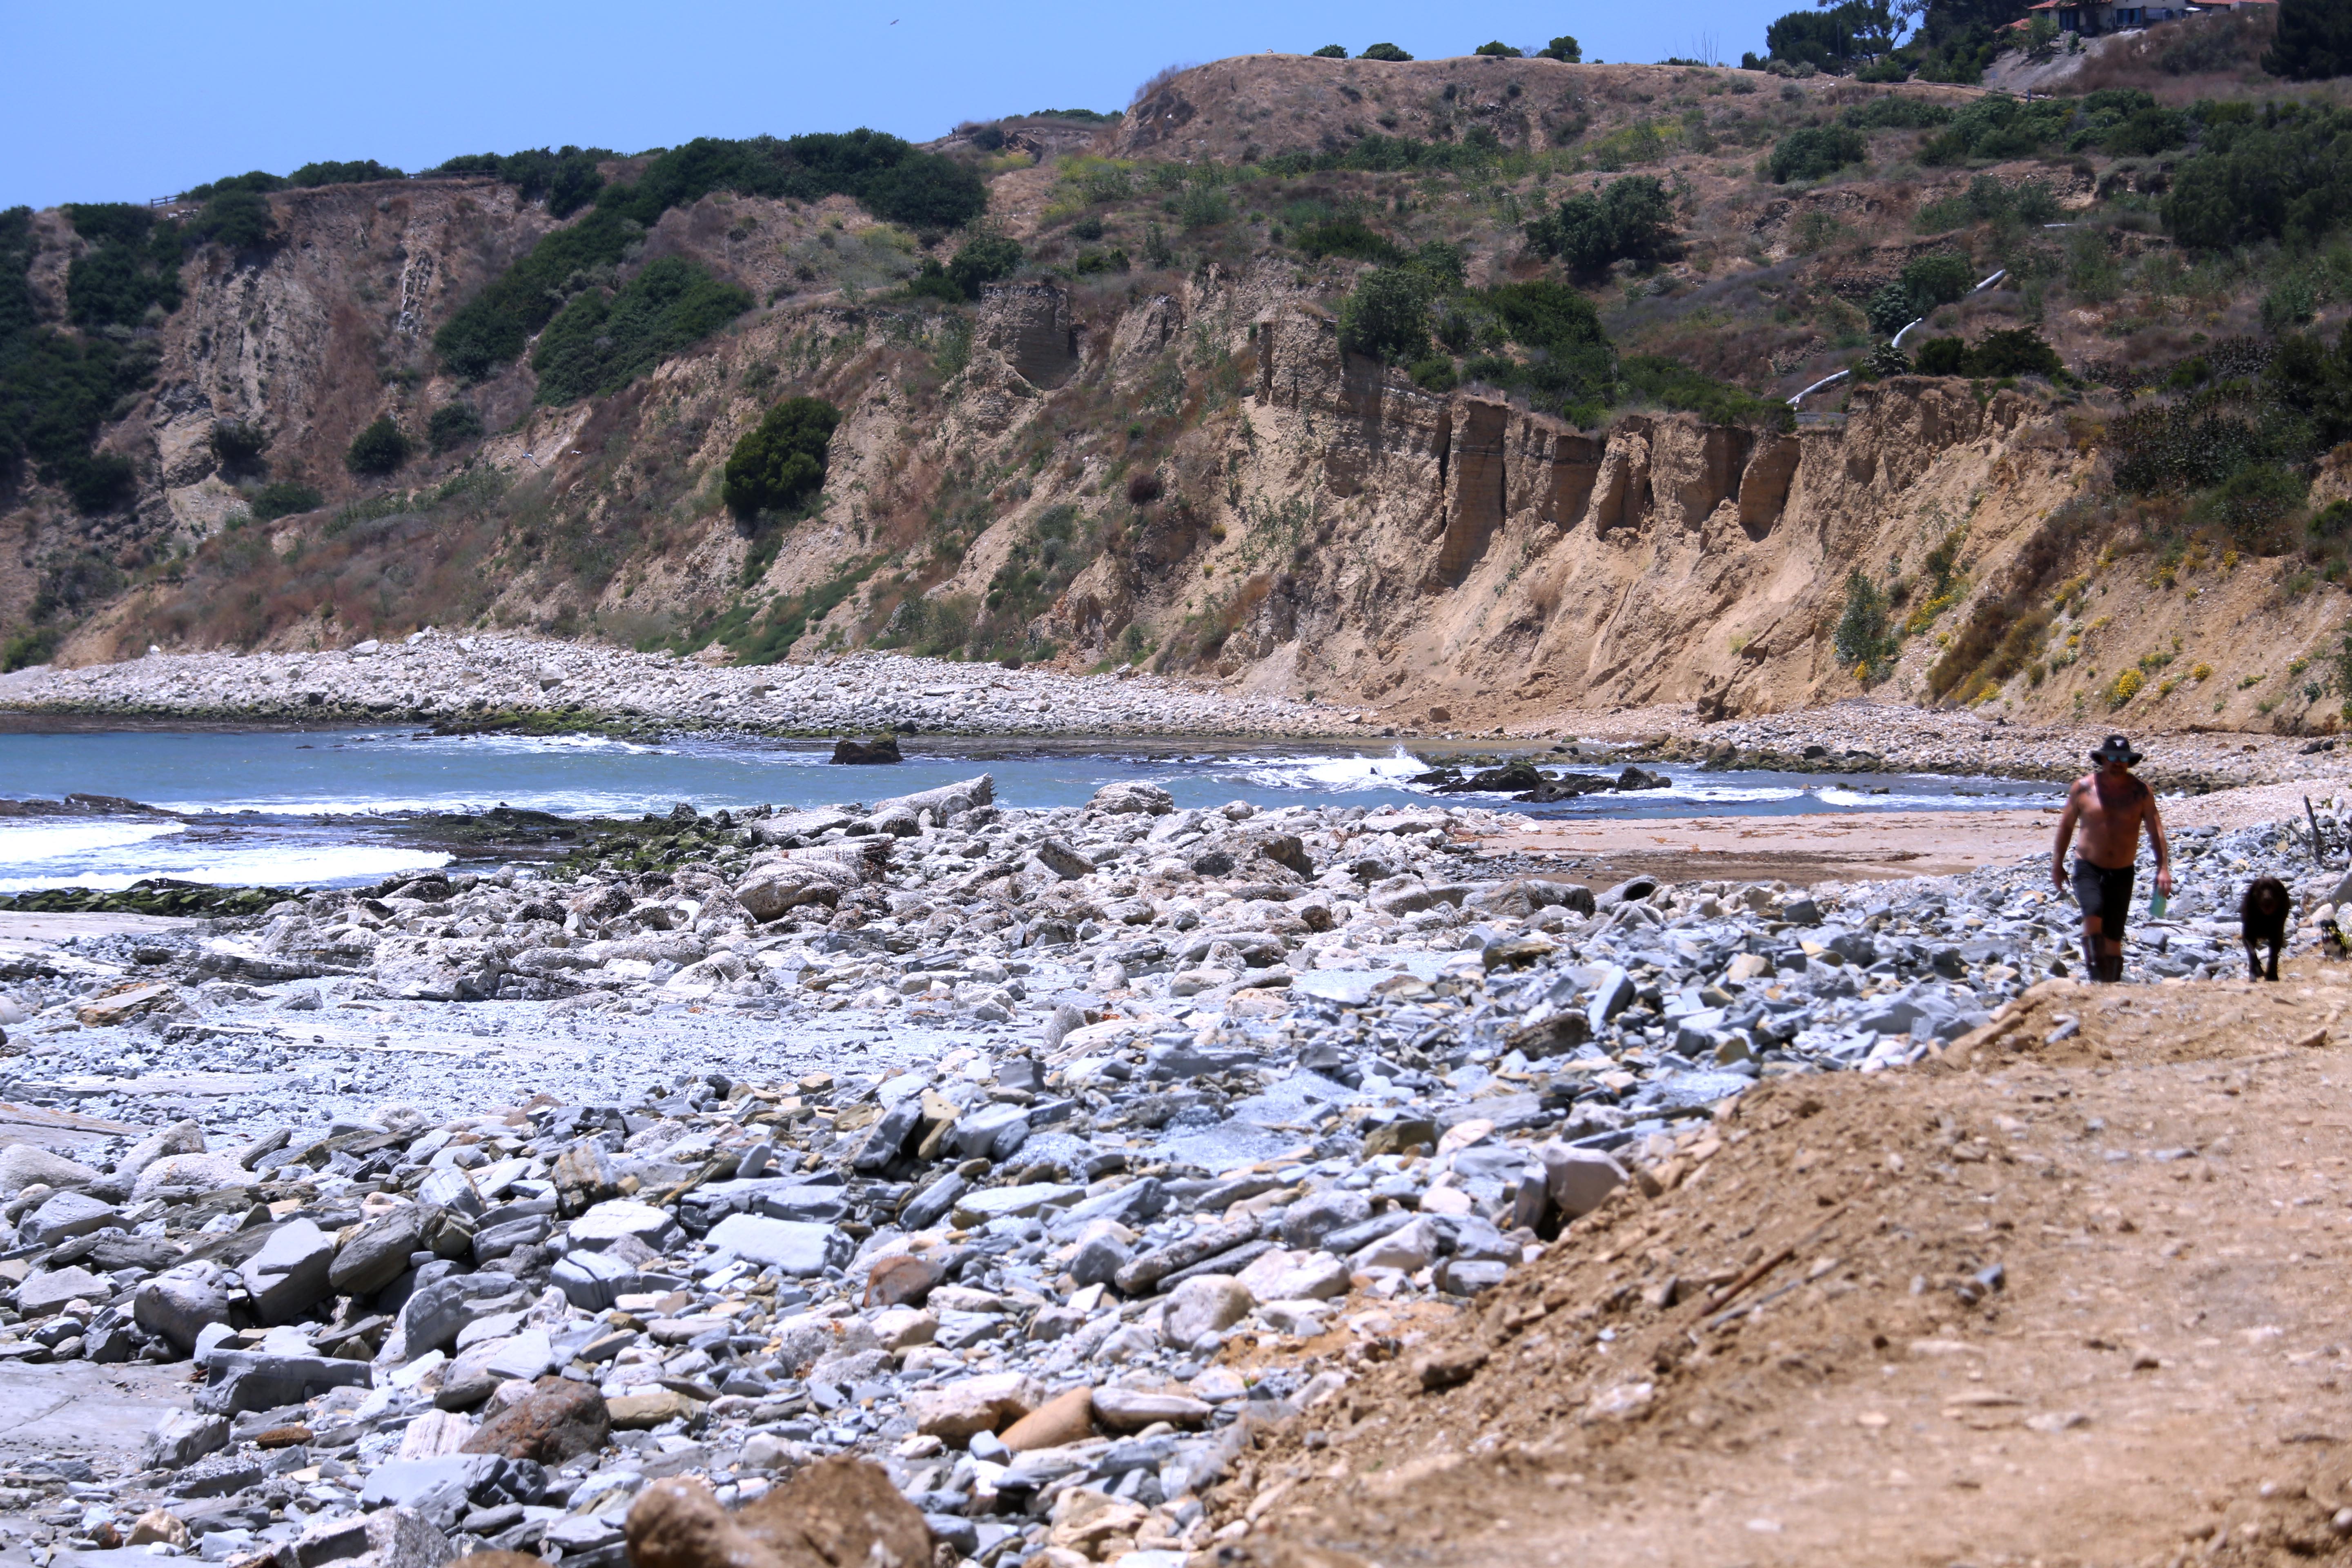
<svg viewBox="0 0 2352 1568">
<path fill-rule="evenodd" d="M 1689 1180 L 1724 1100 L 2072 964 L 2039 860 L 1595 893 L 1489 875 L 1519 825 L 978 776 L 12 950 L 0 1093 L 89 1133 L 0 1150 L 0 1363 L 202 1382 L 7 1507 L 35 1552 L 619 1566 L 847 1455 L 957 1561 L 1176 1563 L 1247 1530 L 1254 1432 Z M 2180 832 L 2133 978 L 2237 973 L 2265 870 L 2307 940 L 2319 825 Z"/>
</svg>

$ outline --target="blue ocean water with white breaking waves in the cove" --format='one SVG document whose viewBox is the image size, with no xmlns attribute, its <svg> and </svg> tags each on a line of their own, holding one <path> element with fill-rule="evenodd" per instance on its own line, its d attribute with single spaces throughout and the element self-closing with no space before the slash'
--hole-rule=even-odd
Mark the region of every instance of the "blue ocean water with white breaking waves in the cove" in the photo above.
<svg viewBox="0 0 2352 1568">
<path fill-rule="evenodd" d="M 1178 806 L 1510 806 L 1503 795 L 1437 797 L 1404 783 L 1425 764 L 1402 748 L 1164 748 L 901 741 L 887 769 L 830 764 L 830 745 L 604 736 L 430 736 L 353 731 L 0 733 L 0 797 L 115 795 L 155 816 L 0 816 L 0 893 L 120 889 L 141 877 L 221 886 L 358 886 L 447 865 L 412 842 L 416 818 L 489 806 L 637 816 L 684 802 L 828 806 L 910 795 L 993 773 L 1004 806 L 1075 806 L 1105 783 L 1150 780 Z M 1602 771 L 1585 764 L 1583 771 Z M 1609 769 L 1613 771 L 1613 769 Z M 2042 806 L 2056 785 L 2002 778 L 1700 773 L 1658 769 L 1665 790 L 1517 806 L 1538 818 L 1679 818 Z"/>
</svg>

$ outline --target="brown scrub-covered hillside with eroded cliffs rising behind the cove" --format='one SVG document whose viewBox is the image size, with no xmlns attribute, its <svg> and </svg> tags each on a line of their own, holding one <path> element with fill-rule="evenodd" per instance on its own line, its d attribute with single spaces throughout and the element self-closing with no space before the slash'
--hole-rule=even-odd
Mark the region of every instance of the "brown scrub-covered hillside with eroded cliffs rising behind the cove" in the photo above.
<svg viewBox="0 0 2352 1568">
<path fill-rule="evenodd" d="M 0 630 L 1131 661 L 1414 726 L 2333 726 L 2340 82 L 2281 118 L 2223 54 L 2032 103 L 1244 56 L 927 150 L 252 190 L 242 240 L 221 193 L 28 214 L 21 341 L 78 343 L 40 386 L 94 437 L 0 489 Z M 2234 195 L 2249 160 L 2307 179 Z"/>
</svg>

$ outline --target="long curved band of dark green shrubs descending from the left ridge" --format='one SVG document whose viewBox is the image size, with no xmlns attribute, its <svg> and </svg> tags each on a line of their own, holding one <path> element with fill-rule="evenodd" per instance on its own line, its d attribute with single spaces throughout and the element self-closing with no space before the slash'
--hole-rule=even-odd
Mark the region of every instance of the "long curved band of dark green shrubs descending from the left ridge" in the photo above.
<svg viewBox="0 0 2352 1568">
<path fill-rule="evenodd" d="M 442 364 L 466 381 L 489 376 L 548 324 L 572 273 L 621 261 L 663 212 L 713 190 L 802 202 L 849 195 L 877 219 L 913 228 L 960 228 L 988 207 L 976 172 L 880 132 L 696 139 L 654 158 L 637 183 L 604 186 L 588 216 L 534 244 L 442 322 L 433 334 Z"/>
</svg>

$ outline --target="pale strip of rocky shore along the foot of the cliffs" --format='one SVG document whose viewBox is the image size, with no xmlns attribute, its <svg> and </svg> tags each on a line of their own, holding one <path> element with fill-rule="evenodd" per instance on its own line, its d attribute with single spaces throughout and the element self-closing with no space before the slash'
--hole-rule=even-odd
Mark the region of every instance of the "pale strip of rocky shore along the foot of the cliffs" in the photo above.
<svg viewBox="0 0 2352 1568">
<path fill-rule="evenodd" d="M 1959 773 L 2074 778 L 2110 733 L 2136 733 L 2143 773 L 2164 790 L 2225 790 L 2345 778 L 2336 736 L 2136 731 L 2131 715 L 2025 726 L 1964 710 L 1846 701 L 1785 715 L 1705 719 L 1691 708 L 1562 710 L 1541 722 L 1463 736 L 1371 705 L 1225 691 L 1136 670 L 1065 675 L 901 654 L 811 665 L 713 668 L 668 654 L 567 642 L 416 632 L 320 654 L 151 654 L 120 665 L 0 675 L 0 717 L 35 724 L 341 726 L 419 724 L 445 733 L 741 733 L 837 738 L 929 733 L 967 738 L 1232 738 L 1442 743 L 1444 762 L 1613 766 L 1693 762 L 1785 773 Z M 1486 743 L 1491 752 L 1470 755 Z M 1597 757 L 1595 757 L 1597 759 Z"/>
</svg>

